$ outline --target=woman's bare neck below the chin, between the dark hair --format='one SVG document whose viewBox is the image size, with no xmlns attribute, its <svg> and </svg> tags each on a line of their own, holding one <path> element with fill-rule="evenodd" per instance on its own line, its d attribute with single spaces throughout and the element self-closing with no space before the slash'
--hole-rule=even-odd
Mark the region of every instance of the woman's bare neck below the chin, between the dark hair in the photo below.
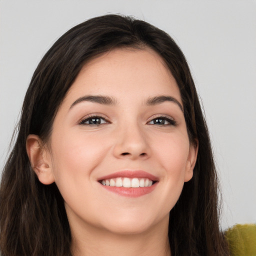
<svg viewBox="0 0 256 256">
<path fill-rule="evenodd" d="M 166 221 L 136 234 L 112 233 L 91 226 L 71 227 L 71 234 L 73 256 L 170 256 Z"/>
</svg>

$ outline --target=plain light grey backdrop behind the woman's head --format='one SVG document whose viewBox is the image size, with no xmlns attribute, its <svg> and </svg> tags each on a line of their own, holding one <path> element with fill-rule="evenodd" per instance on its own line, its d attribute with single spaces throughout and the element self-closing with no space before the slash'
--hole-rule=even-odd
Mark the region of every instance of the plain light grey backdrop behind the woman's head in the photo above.
<svg viewBox="0 0 256 256">
<path fill-rule="evenodd" d="M 67 29 L 105 13 L 148 21 L 181 47 L 212 138 L 221 225 L 255 223 L 255 0 L 0 0 L 0 171 L 39 60 Z"/>
</svg>

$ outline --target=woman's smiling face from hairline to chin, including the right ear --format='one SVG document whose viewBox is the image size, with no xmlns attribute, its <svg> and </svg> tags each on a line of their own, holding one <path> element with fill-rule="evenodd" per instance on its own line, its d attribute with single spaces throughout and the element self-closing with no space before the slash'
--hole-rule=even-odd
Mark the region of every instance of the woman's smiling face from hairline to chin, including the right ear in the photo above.
<svg viewBox="0 0 256 256">
<path fill-rule="evenodd" d="M 196 158 L 176 81 L 151 49 L 114 49 L 81 69 L 50 152 L 71 229 L 117 233 L 167 225 Z"/>
</svg>

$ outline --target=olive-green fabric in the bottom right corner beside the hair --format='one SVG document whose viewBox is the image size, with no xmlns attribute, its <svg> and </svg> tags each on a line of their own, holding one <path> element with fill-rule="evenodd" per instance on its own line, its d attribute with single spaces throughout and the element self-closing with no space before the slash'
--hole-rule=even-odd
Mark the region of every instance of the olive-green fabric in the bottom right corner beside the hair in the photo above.
<svg viewBox="0 0 256 256">
<path fill-rule="evenodd" d="M 236 224 L 225 231 L 231 256 L 256 256 L 256 225 Z"/>
</svg>

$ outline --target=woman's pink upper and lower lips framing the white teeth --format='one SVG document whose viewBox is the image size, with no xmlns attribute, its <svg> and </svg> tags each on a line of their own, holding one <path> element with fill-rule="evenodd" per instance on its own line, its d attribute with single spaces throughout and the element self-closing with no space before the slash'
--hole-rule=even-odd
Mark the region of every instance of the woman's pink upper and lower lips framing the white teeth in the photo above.
<svg viewBox="0 0 256 256">
<path fill-rule="evenodd" d="M 155 181 L 151 186 L 146 187 L 117 187 L 117 186 L 106 186 L 100 183 L 102 179 L 110 179 L 110 178 L 117 178 L 117 177 L 128 177 L 128 178 L 148 178 Z M 121 196 L 126 197 L 139 197 L 145 194 L 148 194 L 154 190 L 154 188 L 158 184 L 158 178 L 146 171 L 143 170 L 123 170 L 117 171 L 105 176 L 102 176 L 98 179 L 100 186 L 104 189 L 107 189 L 110 192 L 117 193 Z"/>
</svg>

